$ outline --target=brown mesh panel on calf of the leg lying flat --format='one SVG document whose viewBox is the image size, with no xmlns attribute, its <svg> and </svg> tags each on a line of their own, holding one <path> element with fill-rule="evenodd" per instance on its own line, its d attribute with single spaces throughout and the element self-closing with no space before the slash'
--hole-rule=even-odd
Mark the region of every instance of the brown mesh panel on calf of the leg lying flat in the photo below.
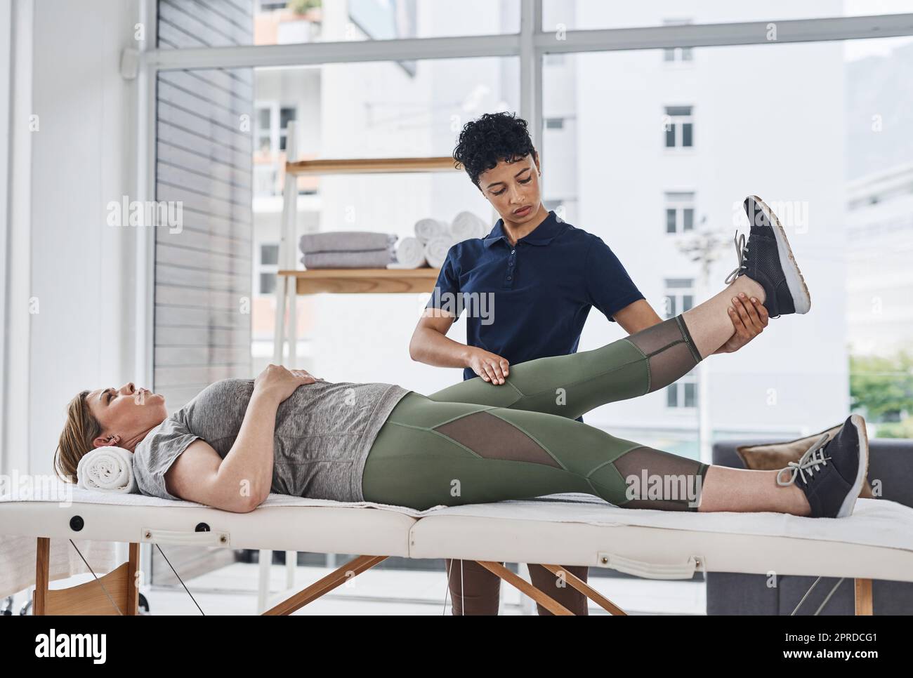
<svg viewBox="0 0 913 678">
<path fill-rule="evenodd" d="M 635 447 L 613 462 L 635 496 L 624 508 L 697 511 L 708 465 L 652 447 Z M 698 480 L 699 478 L 699 480 Z M 691 506 L 689 506 L 689 504 Z"/>
</svg>

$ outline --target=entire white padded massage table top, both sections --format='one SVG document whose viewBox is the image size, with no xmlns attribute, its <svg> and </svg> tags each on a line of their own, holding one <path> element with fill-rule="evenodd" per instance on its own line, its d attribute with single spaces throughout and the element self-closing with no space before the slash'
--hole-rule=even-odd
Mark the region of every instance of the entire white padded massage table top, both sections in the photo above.
<svg viewBox="0 0 913 678">
<path fill-rule="evenodd" d="M 624 509 L 578 494 L 425 511 L 269 495 L 256 510 L 236 514 L 145 495 L 70 491 L 69 506 L 53 493 L 27 501 L 0 496 L 0 535 L 544 562 L 662 579 L 687 578 L 698 568 L 913 581 L 913 508 L 880 499 L 857 500 L 853 516 L 806 518 Z M 208 532 L 197 531 L 201 524 Z"/>
</svg>

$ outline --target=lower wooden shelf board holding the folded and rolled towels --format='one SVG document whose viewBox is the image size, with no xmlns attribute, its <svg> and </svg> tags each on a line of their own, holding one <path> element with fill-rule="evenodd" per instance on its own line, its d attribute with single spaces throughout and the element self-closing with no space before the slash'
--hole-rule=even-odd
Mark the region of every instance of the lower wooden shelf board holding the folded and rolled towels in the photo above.
<svg viewBox="0 0 913 678">
<path fill-rule="evenodd" d="M 280 270 L 295 278 L 296 294 L 409 294 L 431 292 L 440 268 L 309 268 Z"/>
</svg>

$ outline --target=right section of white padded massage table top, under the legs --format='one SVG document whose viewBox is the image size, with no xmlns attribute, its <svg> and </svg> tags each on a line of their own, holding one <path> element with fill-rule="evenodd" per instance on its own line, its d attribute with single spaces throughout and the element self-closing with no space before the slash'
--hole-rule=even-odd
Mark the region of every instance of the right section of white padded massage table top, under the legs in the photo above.
<svg viewBox="0 0 913 678">
<path fill-rule="evenodd" d="M 852 516 L 807 518 L 624 509 L 590 495 L 542 499 L 422 517 L 410 556 L 610 567 L 656 579 L 702 569 L 913 581 L 913 508 L 897 502 L 859 499 Z"/>
</svg>

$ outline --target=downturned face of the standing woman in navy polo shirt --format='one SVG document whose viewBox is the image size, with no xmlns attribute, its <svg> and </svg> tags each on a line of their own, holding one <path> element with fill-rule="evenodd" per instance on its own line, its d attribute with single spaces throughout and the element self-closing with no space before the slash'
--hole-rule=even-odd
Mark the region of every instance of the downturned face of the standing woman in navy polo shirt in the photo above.
<svg viewBox="0 0 913 678">
<path fill-rule="evenodd" d="M 513 162 L 498 161 L 495 167 L 478 175 L 478 185 L 505 223 L 523 224 L 539 214 L 539 161 L 533 160 L 532 153 Z M 516 214 L 522 208 L 529 209 Z"/>
</svg>

